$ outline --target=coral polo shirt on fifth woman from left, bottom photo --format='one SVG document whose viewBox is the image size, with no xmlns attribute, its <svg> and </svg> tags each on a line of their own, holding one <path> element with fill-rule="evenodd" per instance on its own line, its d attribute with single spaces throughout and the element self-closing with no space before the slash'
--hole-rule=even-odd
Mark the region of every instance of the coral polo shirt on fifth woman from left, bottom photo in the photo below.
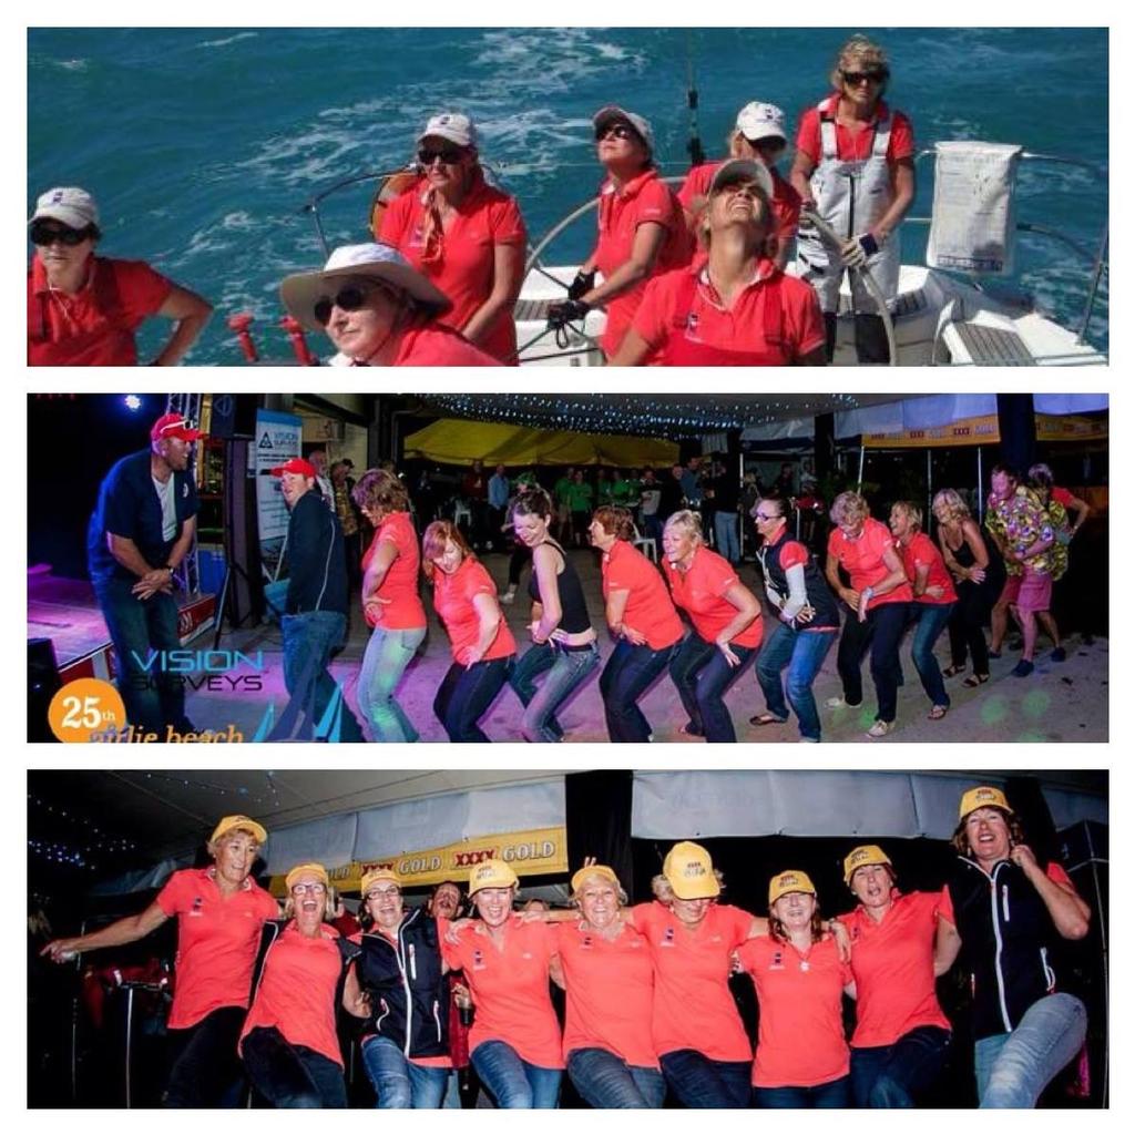
<svg viewBox="0 0 1135 1135">
<path fill-rule="evenodd" d="M 605 1049 L 634 1068 L 657 1068 L 650 1017 L 650 948 L 623 924 L 609 941 L 582 922 L 558 923 L 556 948 L 568 986 L 564 1060 L 575 1049 Z"/>
</svg>

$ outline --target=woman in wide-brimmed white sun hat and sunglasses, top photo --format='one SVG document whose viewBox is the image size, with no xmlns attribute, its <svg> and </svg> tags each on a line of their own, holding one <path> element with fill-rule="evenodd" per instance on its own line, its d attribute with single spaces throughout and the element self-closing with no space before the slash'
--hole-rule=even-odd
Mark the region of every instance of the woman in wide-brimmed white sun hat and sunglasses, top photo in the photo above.
<svg viewBox="0 0 1135 1135">
<path fill-rule="evenodd" d="M 385 244 L 336 249 L 321 271 L 285 277 L 280 297 L 308 330 L 327 331 L 333 367 L 501 365 L 439 322 L 449 300 Z"/>
</svg>

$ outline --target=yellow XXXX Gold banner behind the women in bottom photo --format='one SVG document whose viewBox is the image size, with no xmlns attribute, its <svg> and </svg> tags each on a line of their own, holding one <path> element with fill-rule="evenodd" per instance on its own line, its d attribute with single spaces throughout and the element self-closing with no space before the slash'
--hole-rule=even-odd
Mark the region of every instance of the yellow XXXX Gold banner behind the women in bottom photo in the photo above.
<svg viewBox="0 0 1135 1135">
<path fill-rule="evenodd" d="M 432 886 L 449 880 L 464 889 L 470 868 L 482 859 L 504 859 L 518 875 L 564 873 L 568 871 L 568 831 L 564 827 L 535 827 L 505 835 L 485 835 L 426 851 L 350 863 L 328 874 L 333 885 L 346 894 L 358 893 L 362 876 L 376 867 L 393 871 L 403 886 Z M 283 897 L 283 875 L 272 876 L 271 892 Z"/>
</svg>

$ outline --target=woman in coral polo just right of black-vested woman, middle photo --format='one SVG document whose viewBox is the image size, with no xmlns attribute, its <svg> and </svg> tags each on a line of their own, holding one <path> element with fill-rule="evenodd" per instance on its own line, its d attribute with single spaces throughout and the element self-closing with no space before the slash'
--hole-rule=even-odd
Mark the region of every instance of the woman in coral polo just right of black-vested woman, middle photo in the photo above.
<svg viewBox="0 0 1135 1135">
<path fill-rule="evenodd" d="M 824 573 L 850 614 L 844 613 L 835 662 L 843 695 L 829 698 L 827 706 L 861 704 L 863 658 L 871 650 L 871 678 L 878 709 L 867 735 L 886 737 L 894 729 L 898 712 L 899 642 L 914 596 L 890 530 L 872 519 L 864 497 L 858 493 L 841 493 L 832 503 L 831 518 L 835 528 L 827 538 Z M 850 586 L 840 578 L 841 568 Z"/>
</svg>

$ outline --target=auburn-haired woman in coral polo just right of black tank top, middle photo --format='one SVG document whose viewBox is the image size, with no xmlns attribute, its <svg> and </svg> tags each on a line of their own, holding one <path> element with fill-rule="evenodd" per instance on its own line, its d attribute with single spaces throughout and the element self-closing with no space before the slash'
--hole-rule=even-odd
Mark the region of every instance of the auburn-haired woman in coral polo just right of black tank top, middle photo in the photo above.
<svg viewBox="0 0 1135 1135">
<path fill-rule="evenodd" d="M 603 553 L 603 598 L 615 649 L 599 675 L 603 712 L 612 741 L 649 741 L 650 723 L 639 699 L 670 665 L 682 621 L 658 569 L 631 540 L 634 521 L 617 505 L 596 511 L 588 529 Z"/>
</svg>

